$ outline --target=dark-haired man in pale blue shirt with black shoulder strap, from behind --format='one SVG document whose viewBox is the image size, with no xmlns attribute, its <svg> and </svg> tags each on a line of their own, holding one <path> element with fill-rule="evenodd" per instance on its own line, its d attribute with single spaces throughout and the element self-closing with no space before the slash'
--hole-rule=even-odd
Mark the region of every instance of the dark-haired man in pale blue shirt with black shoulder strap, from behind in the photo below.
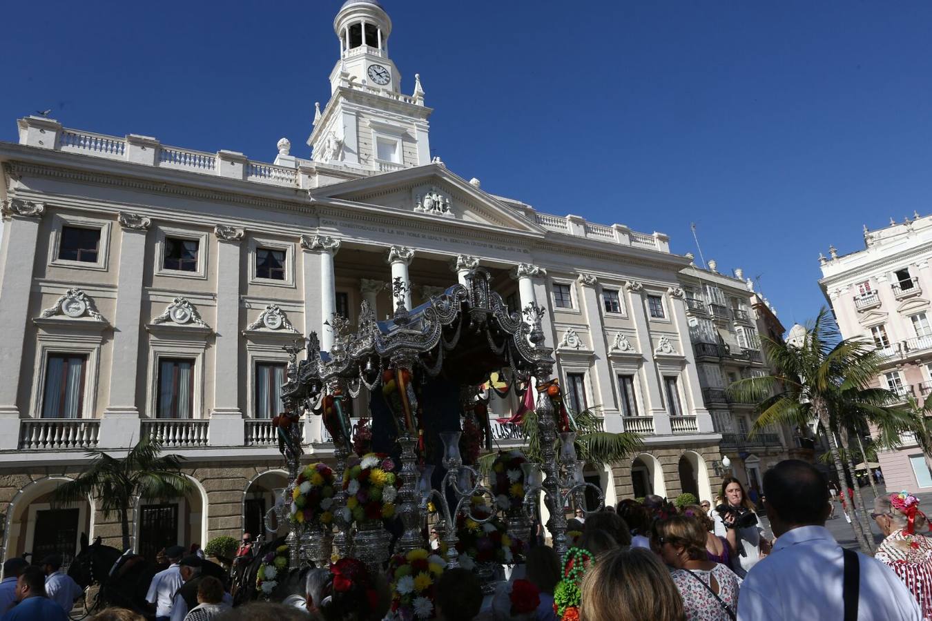
<svg viewBox="0 0 932 621">
<path fill-rule="evenodd" d="M 745 578 L 738 597 L 738 621 L 841 621 L 845 618 L 843 550 L 825 528 L 829 516 L 825 476 L 811 464 L 788 459 L 764 475 L 763 494 L 777 539 L 770 555 Z M 857 554 L 857 560 L 857 615 L 852 614 L 853 618 L 922 620 L 919 606 L 896 574 L 863 554 Z"/>
</svg>

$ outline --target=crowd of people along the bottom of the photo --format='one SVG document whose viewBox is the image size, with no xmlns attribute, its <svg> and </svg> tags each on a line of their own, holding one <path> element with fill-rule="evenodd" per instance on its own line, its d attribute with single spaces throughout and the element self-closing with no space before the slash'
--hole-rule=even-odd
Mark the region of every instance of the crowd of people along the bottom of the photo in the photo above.
<svg viewBox="0 0 932 621">
<path fill-rule="evenodd" d="M 870 515 L 884 541 L 871 558 L 843 549 L 825 528 L 829 482 L 815 466 L 781 462 L 765 473 L 761 492 L 773 542 L 737 479 L 723 481 L 714 503 L 624 500 L 569 520 L 565 566 L 552 547 L 530 547 L 524 565 L 494 594 L 484 593 L 472 571 L 447 569 L 436 584 L 432 618 L 932 621 L 932 539 L 921 534 L 928 523 L 915 496 L 876 498 Z M 248 537 L 240 550 L 249 551 Z M 146 598 L 158 621 L 380 621 L 390 614 L 387 578 L 358 560 L 309 570 L 303 593 L 285 601 L 233 608 L 224 583 L 201 574 L 201 555 L 183 547 L 165 555 L 170 566 L 156 574 Z M 41 566 L 7 560 L 0 621 L 67 618 L 79 588 L 61 565 L 56 557 Z M 578 599 L 569 607 L 568 593 Z M 144 617 L 107 609 L 92 618 Z"/>
</svg>

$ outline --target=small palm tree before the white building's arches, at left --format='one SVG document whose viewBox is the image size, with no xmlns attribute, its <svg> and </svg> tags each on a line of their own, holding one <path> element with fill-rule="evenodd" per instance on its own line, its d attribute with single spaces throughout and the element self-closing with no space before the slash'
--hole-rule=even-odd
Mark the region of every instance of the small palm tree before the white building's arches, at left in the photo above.
<svg viewBox="0 0 932 621">
<path fill-rule="evenodd" d="M 181 455 L 160 455 L 161 442 L 144 436 L 126 457 L 103 451 L 87 454 L 90 463 L 81 473 L 55 490 L 53 502 L 78 503 L 96 496 L 103 515 L 117 513 L 123 532 L 123 549 L 130 549 L 130 506 L 137 498 L 168 499 L 184 495 L 191 482 L 181 473 Z"/>
</svg>

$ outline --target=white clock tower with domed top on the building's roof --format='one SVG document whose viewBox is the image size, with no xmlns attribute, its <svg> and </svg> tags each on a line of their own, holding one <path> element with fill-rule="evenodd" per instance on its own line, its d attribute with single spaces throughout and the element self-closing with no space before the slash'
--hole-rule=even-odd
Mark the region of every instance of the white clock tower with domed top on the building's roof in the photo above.
<svg viewBox="0 0 932 621">
<path fill-rule="evenodd" d="M 330 74 L 330 101 L 316 107 L 311 159 L 379 172 L 431 162 L 424 91 L 401 93 L 389 58 L 391 19 L 377 0 L 347 0 L 334 20 L 340 58 Z"/>
</svg>

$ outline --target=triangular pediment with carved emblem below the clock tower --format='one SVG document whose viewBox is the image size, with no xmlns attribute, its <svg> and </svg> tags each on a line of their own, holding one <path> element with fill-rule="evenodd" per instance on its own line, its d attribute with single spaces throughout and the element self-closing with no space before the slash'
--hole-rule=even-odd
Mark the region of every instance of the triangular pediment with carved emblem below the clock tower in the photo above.
<svg viewBox="0 0 932 621">
<path fill-rule="evenodd" d="M 310 196 L 438 221 L 486 224 L 540 235 L 544 232 L 524 214 L 438 164 L 326 185 L 311 190 Z"/>
</svg>

